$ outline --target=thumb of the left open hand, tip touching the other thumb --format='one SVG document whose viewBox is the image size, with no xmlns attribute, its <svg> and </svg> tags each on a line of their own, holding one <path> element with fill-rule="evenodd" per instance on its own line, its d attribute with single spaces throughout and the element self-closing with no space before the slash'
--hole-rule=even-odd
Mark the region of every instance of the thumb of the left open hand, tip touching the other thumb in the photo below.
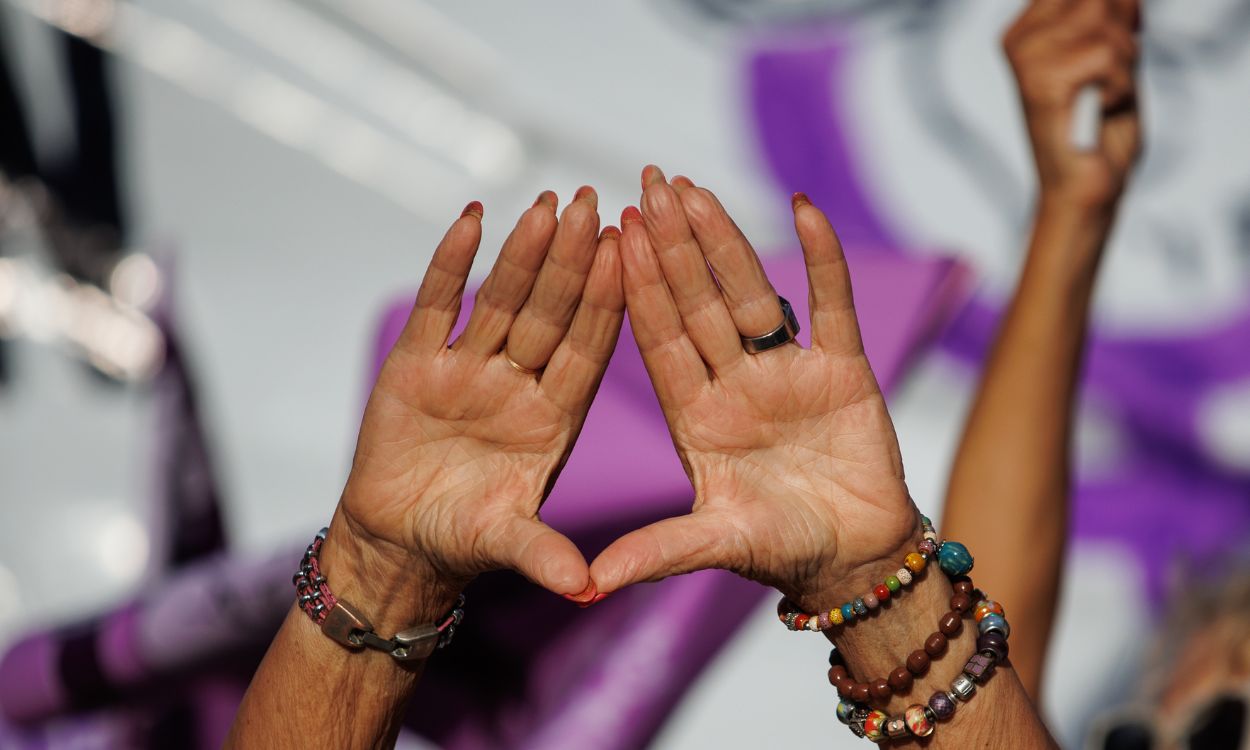
<svg viewBox="0 0 1250 750">
<path fill-rule="evenodd" d="M 578 545 L 535 518 L 516 518 L 488 542 L 486 556 L 548 591 L 576 596 L 590 588 L 590 569 Z"/>
</svg>

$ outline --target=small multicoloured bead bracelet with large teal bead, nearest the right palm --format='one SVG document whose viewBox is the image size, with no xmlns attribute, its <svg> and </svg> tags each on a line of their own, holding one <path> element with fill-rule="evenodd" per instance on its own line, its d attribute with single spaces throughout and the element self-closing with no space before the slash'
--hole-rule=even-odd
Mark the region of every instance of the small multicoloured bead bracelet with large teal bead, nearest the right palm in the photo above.
<svg viewBox="0 0 1250 750">
<path fill-rule="evenodd" d="M 914 578 L 925 569 L 929 560 L 938 558 L 938 565 L 950 578 L 966 575 L 972 570 L 972 555 L 968 548 L 958 541 L 938 541 L 938 532 L 934 530 L 929 516 L 920 516 L 920 525 L 924 530 L 924 541 L 918 545 L 915 552 L 909 552 L 902 559 L 902 568 L 894 575 L 886 576 L 884 582 L 872 586 L 872 590 L 862 596 L 855 598 L 841 606 L 815 614 L 801 612 L 789 598 L 782 596 L 778 602 L 778 619 L 790 630 L 810 630 L 819 632 L 829 630 L 836 625 L 850 622 L 856 618 L 868 615 L 891 596 L 896 596 L 902 588 L 909 586 Z"/>
</svg>

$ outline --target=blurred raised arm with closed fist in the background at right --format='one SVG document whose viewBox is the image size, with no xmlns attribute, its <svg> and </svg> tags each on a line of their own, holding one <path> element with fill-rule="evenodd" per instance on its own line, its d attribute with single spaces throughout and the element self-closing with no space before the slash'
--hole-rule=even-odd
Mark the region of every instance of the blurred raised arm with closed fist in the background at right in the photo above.
<svg viewBox="0 0 1250 750">
<path fill-rule="evenodd" d="M 1072 411 L 1094 281 L 1140 149 L 1135 0 L 1036 0 L 1006 32 L 1040 179 L 1024 270 L 990 352 L 946 492 L 942 532 L 978 540 L 979 581 L 1029 622 L 1011 661 L 1032 696 L 1068 538 Z M 1098 85 L 1098 146 L 1071 142 Z"/>
</svg>

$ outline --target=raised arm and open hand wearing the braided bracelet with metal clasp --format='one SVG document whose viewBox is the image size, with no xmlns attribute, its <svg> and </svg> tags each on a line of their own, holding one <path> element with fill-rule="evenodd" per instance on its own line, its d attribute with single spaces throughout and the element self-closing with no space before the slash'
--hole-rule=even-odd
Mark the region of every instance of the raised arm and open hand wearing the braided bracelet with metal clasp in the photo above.
<svg viewBox="0 0 1250 750">
<path fill-rule="evenodd" d="M 394 744 L 424 661 L 328 638 L 348 611 L 341 602 L 390 639 L 442 621 L 486 570 L 512 569 L 571 600 L 594 600 L 581 552 L 538 512 L 624 315 L 619 232 L 598 235 L 595 201 L 581 189 L 558 221 L 555 195 L 544 192 L 504 244 L 450 346 L 481 205 L 470 204 L 448 231 L 369 398 L 351 475 L 319 550 L 340 604 L 320 628 L 292 606 L 228 746 Z"/>
</svg>

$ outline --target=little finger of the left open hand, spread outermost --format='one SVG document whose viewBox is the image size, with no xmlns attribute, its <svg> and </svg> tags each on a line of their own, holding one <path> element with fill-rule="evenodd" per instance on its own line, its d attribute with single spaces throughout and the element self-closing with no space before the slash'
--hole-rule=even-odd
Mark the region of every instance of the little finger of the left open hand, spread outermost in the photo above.
<svg viewBox="0 0 1250 750">
<path fill-rule="evenodd" d="M 465 206 L 460 219 L 456 219 L 434 250 L 398 346 L 412 351 L 436 351 L 448 345 L 451 328 L 460 318 L 465 280 L 481 242 L 481 216 L 480 202 L 472 201 Z"/>
</svg>

